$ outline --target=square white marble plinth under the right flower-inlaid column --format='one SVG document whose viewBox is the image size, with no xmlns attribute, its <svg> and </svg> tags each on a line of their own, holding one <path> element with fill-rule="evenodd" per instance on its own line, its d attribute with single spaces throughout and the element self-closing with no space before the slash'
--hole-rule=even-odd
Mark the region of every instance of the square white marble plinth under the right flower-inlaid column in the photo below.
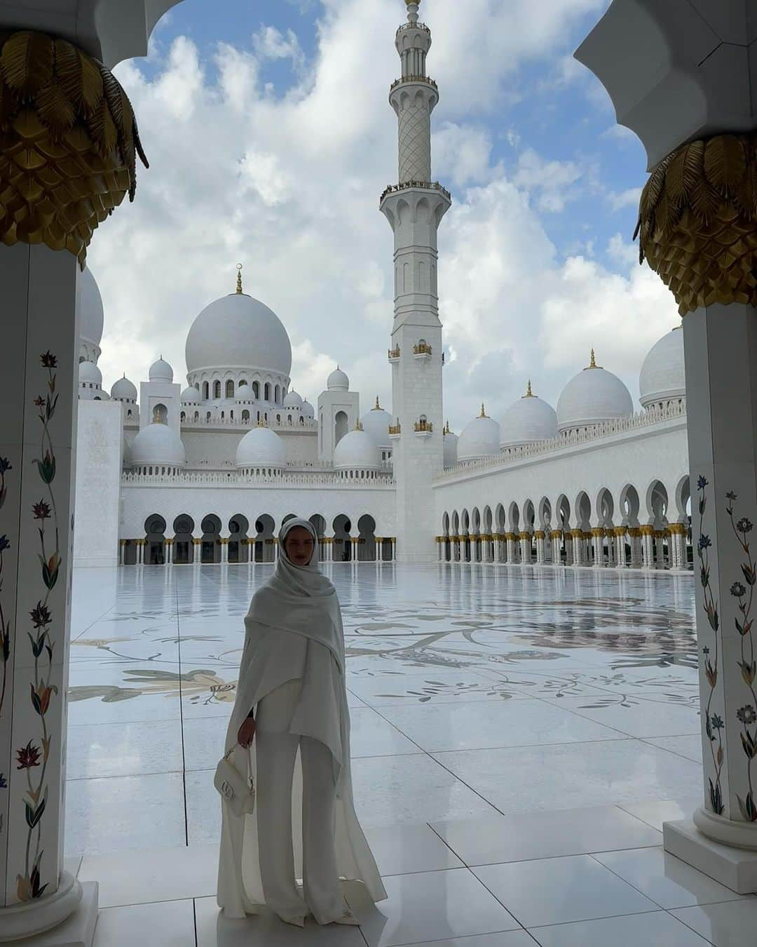
<svg viewBox="0 0 757 947">
<path fill-rule="evenodd" d="M 734 828 L 734 832 L 737 831 Z M 757 892 L 757 851 L 754 849 L 715 842 L 696 828 L 693 819 L 665 822 L 662 839 L 665 851 L 725 884 L 736 894 Z"/>
</svg>

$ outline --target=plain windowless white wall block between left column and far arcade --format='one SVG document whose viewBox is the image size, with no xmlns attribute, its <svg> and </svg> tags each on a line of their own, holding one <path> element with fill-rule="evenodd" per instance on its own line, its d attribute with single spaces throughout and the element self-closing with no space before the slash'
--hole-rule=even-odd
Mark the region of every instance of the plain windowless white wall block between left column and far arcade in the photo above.
<svg viewBox="0 0 757 947">
<path fill-rule="evenodd" d="M 118 564 L 120 402 L 79 401 L 74 565 Z"/>
</svg>

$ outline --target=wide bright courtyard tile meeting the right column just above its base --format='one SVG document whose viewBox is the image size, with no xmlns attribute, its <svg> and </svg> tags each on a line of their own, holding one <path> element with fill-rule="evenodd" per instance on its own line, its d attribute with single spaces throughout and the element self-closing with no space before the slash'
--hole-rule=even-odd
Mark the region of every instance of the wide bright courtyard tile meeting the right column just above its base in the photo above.
<svg viewBox="0 0 757 947">
<path fill-rule="evenodd" d="M 669 799 L 686 795 L 701 781 L 695 762 L 636 740 L 432 756 L 502 813 Z"/>
</svg>

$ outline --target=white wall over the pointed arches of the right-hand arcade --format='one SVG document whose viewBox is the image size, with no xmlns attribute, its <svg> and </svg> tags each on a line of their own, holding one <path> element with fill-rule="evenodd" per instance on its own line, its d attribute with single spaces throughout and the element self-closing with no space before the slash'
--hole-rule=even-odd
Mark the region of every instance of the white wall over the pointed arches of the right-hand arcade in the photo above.
<svg viewBox="0 0 757 947">
<path fill-rule="evenodd" d="M 607 517 L 606 522 L 600 522 L 603 516 L 598 512 L 600 495 L 607 504 L 607 493 L 612 500 L 609 519 L 614 526 L 622 526 L 629 522 L 623 508 L 628 486 L 633 487 L 639 497 L 637 523 L 653 523 L 652 488 L 657 483 L 667 494 L 666 518 L 674 523 L 686 515 L 688 487 L 684 487 L 682 493 L 681 488 L 688 476 L 686 417 L 682 415 L 607 438 L 572 444 L 541 456 L 519 458 L 501 468 L 473 468 L 469 474 L 461 470 L 459 476 L 450 476 L 448 472 L 445 479 L 432 485 L 436 534 L 444 533 L 445 513 L 451 517 L 453 511 L 457 511 L 460 516 L 466 509 L 470 515 L 476 508 L 483 518 L 486 507 L 492 512 L 495 530 L 499 526 L 512 529 L 516 525 L 512 522 L 513 504 L 518 509 L 519 527 L 524 528 L 523 509 L 529 500 L 535 511 L 535 527 L 544 528 L 544 498 L 549 501 L 551 526 L 558 528 L 557 507 L 562 496 L 570 507 L 570 525 L 584 527 L 585 523 L 576 520 L 577 499 L 582 492 L 587 494 L 591 527 L 607 525 Z M 587 509 L 586 503 L 584 500 L 584 509 Z M 499 505 L 505 517 L 502 524 L 497 523 Z M 637 525 L 633 513 L 630 523 Z M 485 526 L 483 519 L 482 524 Z M 451 526 L 449 532 L 453 532 Z"/>
</svg>

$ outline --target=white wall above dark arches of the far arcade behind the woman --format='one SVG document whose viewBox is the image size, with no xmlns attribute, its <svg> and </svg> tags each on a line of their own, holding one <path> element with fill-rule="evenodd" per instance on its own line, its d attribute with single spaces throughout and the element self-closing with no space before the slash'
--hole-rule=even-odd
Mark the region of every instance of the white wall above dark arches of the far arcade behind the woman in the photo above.
<svg viewBox="0 0 757 947">
<path fill-rule="evenodd" d="M 194 521 L 194 535 L 202 535 L 202 518 L 213 513 L 220 519 L 221 536 L 229 535 L 229 520 L 238 513 L 246 517 L 251 525 L 267 513 L 273 518 L 276 532 L 288 513 L 306 519 L 320 513 L 326 520 L 326 535 L 333 532 L 334 519 L 345 514 L 357 535 L 358 520 L 364 513 L 376 521 L 377 536 L 395 536 L 395 487 L 344 487 L 338 483 L 314 483 L 308 488 L 303 484 L 271 483 L 255 487 L 238 487 L 225 484 L 185 484 L 167 479 L 154 485 L 130 485 L 121 487 L 122 539 L 136 539 L 145 535 L 145 521 L 154 513 L 162 516 L 167 524 L 166 535 L 174 535 L 174 520 L 188 514 Z"/>
</svg>

